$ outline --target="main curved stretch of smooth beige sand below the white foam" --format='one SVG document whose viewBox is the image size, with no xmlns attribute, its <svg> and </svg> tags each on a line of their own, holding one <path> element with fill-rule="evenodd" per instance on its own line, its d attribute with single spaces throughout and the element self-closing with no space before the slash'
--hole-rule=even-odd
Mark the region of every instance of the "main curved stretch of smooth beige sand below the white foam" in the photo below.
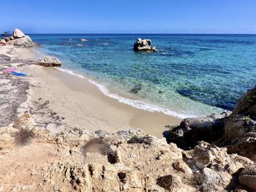
<svg viewBox="0 0 256 192">
<path fill-rule="evenodd" d="M 177 125 L 181 121 L 161 112 L 149 112 L 120 103 L 105 96 L 89 80 L 57 69 L 36 69 L 34 76 L 40 85 L 34 87 L 36 93 L 32 100 L 45 100 L 44 94 L 48 93 L 49 107 L 65 118 L 63 121 L 67 127 L 76 126 L 90 132 L 140 128 L 146 134 L 162 138 L 162 133 L 168 130 L 166 125 Z M 57 85 L 58 90 L 53 89 Z M 61 98 L 63 95 L 65 98 Z"/>
</svg>

